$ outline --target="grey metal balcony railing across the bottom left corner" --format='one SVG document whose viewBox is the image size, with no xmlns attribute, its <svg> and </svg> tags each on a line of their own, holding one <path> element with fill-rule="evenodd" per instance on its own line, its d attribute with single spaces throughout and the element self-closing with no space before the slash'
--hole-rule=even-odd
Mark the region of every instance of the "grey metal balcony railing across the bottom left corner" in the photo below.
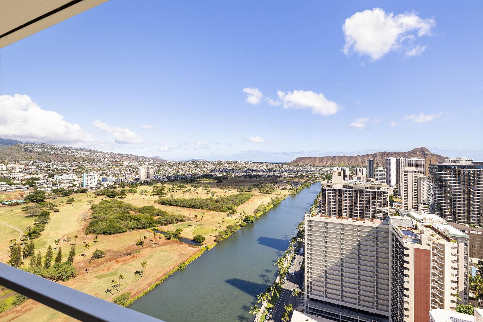
<svg viewBox="0 0 483 322">
<path fill-rule="evenodd" d="M 162 322 L 3 263 L 0 263 L 0 285 L 80 321 Z"/>
</svg>

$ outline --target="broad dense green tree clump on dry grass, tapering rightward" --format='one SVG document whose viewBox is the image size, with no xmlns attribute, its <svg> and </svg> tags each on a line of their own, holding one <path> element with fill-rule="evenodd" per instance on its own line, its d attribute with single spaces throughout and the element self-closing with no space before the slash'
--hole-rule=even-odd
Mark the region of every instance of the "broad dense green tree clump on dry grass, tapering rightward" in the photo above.
<svg viewBox="0 0 483 322">
<path fill-rule="evenodd" d="M 92 205 L 91 221 L 86 233 L 112 235 L 131 229 L 146 229 L 157 225 L 184 222 L 187 218 L 179 214 L 169 214 L 154 206 L 135 207 L 118 199 L 106 199 Z M 159 216 L 155 219 L 154 217 Z"/>
</svg>

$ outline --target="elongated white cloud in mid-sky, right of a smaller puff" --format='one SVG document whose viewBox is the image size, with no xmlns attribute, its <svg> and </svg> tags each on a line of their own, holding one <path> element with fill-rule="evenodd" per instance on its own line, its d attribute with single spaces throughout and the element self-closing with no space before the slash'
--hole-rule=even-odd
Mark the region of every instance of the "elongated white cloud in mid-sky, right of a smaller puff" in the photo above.
<svg viewBox="0 0 483 322">
<path fill-rule="evenodd" d="M 337 113 L 341 108 L 336 102 L 325 98 L 324 94 L 313 91 L 277 91 L 277 95 L 278 103 L 283 104 L 284 109 L 312 109 L 314 114 L 327 116 Z M 270 100 L 269 104 L 276 105 L 275 102 L 270 103 Z"/>
</svg>

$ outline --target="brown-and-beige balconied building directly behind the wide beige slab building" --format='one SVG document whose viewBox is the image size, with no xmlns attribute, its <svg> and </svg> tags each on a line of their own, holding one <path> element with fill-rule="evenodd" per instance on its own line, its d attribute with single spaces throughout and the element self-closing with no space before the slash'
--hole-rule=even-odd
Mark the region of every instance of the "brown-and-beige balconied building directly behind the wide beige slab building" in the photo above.
<svg viewBox="0 0 483 322">
<path fill-rule="evenodd" d="M 323 215 L 384 219 L 389 214 L 388 186 L 332 176 L 332 181 L 322 182 L 320 205 Z"/>
</svg>

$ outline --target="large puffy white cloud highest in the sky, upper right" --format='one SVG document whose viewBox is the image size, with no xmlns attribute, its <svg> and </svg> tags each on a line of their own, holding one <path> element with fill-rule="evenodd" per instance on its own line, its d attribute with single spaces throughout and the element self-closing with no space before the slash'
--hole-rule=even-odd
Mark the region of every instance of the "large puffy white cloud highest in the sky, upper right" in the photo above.
<svg viewBox="0 0 483 322">
<path fill-rule="evenodd" d="M 414 13 L 386 14 L 381 8 L 356 12 L 342 26 L 343 52 L 348 55 L 354 51 L 369 56 L 371 61 L 393 50 L 404 51 L 406 56 L 421 55 L 427 45 L 413 43 L 416 37 L 431 35 L 435 25 L 433 18 L 422 19 Z"/>
</svg>

